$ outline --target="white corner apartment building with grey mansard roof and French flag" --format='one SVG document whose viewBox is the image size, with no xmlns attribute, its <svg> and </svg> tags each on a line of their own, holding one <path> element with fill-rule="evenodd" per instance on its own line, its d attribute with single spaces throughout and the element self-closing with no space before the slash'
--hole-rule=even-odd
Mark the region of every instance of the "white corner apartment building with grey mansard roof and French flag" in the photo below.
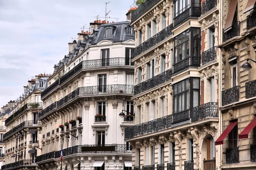
<svg viewBox="0 0 256 170">
<path fill-rule="evenodd" d="M 90 23 L 69 43 L 42 93 L 42 170 L 131 169 L 124 128 L 133 117 L 134 31 L 130 22 Z M 61 148 L 63 160 L 61 161 Z"/>
</svg>

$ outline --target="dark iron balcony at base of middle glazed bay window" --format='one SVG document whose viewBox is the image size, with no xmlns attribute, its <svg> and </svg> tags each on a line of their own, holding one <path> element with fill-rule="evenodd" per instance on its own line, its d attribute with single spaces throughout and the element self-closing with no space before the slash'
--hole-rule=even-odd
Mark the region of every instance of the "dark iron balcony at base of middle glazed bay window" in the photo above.
<svg viewBox="0 0 256 170">
<path fill-rule="evenodd" d="M 201 57 L 188 57 L 173 65 L 173 73 L 183 70 L 189 66 L 200 66 Z"/>
</svg>

